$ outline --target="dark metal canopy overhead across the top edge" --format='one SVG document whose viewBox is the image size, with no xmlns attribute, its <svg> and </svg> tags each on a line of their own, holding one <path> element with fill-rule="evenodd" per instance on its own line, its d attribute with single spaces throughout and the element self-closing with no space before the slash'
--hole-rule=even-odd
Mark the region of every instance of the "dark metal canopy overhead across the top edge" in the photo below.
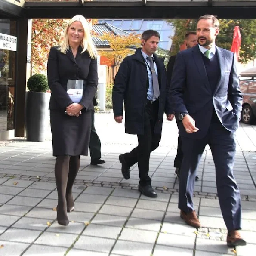
<svg viewBox="0 0 256 256">
<path fill-rule="evenodd" d="M 206 13 L 254 19 L 255 0 L 0 0 L 0 11 L 23 18 L 191 18 Z"/>
</svg>

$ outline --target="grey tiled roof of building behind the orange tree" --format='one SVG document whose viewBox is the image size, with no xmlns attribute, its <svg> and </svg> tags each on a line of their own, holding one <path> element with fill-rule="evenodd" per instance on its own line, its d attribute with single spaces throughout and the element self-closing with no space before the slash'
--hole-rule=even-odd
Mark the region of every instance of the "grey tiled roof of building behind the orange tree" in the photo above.
<svg viewBox="0 0 256 256">
<path fill-rule="evenodd" d="M 120 36 L 129 35 L 129 33 L 127 33 L 126 31 L 123 31 L 120 28 L 112 26 L 107 22 L 94 24 L 93 31 L 96 32 L 99 36 L 102 36 L 104 33 L 109 33 L 109 32 L 112 32 L 114 35 L 120 35 Z M 97 48 L 102 48 L 102 47 L 110 48 L 108 41 L 101 40 L 99 37 L 93 37 L 93 43 Z"/>
</svg>

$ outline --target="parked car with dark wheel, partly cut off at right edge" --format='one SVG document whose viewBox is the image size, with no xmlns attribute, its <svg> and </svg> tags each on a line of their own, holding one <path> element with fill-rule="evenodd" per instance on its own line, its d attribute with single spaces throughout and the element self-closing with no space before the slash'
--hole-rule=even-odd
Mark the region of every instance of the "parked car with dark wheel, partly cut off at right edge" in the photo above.
<svg viewBox="0 0 256 256">
<path fill-rule="evenodd" d="M 256 117 L 256 67 L 249 68 L 240 73 L 240 89 L 243 95 L 243 109 L 241 121 L 251 124 Z"/>
</svg>

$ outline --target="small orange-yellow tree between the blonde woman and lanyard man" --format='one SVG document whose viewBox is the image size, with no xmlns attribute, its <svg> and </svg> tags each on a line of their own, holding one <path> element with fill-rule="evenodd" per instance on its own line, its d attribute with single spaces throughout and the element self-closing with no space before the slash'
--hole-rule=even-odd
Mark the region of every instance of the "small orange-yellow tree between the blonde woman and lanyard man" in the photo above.
<svg viewBox="0 0 256 256">
<path fill-rule="evenodd" d="M 133 54 L 135 49 L 140 45 L 140 35 L 138 34 L 127 34 L 127 35 L 114 35 L 113 33 L 105 33 L 100 37 L 102 40 L 107 40 L 111 51 L 99 52 L 101 56 L 108 58 L 109 63 L 112 67 L 120 65 L 123 59 Z"/>
</svg>

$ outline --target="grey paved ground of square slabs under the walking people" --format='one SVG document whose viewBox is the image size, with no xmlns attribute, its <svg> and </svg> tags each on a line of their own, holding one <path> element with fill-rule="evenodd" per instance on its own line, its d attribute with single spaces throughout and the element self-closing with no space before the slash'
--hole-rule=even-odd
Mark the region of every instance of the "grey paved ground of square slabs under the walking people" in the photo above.
<svg viewBox="0 0 256 256">
<path fill-rule="evenodd" d="M 164 121 L 160 147 L 151 155 L 150 175 L 157 198 L 141 195 L 138 167 L 126 181 L 118 155 L 136 146 L 112 114 L 96 114 L 106 163 L 90 166 L 81 157 L 70 223 L 56 222 L 57 192 L 50 133 L 45 142 L 18 138 L 0 144 L 0 256 L 253 256 L 256 251 L 256 126 L 237 132 L 234 173 L 242 195 L 247 246 L 228 248 L 216 196 L 209 148 L 198 168 L 194 204 L 202 228 L 180 219 L 179 180 L 174 175 L 177 127 Z"/>
</svg>

